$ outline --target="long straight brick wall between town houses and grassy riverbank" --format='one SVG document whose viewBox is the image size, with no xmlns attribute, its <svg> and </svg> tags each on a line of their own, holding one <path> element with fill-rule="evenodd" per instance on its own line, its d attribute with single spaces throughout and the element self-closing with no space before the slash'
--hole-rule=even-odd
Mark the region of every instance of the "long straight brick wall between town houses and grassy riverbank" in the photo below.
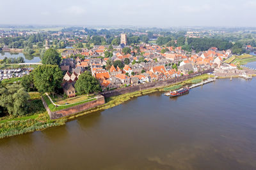
<svg viewBox="0 0 256 170">
<path fill-rule="evenodd" d="M 132 86 L 132 87 L 125 87 L 123 89 L 116 89 L 116 90 L 111 90 L 108 92 L 102 92 L 101 95 L 104 97 L 112 97 L 112 96 L 118 96 L 120 94 L 136 92 L 136 91 L 140 91 L 140 90 L 153 89 L 153 88 L 157 88 L 157 87 L 165 87 L 168 85 L 172 85 L 173 83 L 178 83 L 180 81 L 188 80 L 189 78 L 193 78 L 195 76 L 199 76 L 199 75 L 202 75 L 205 73 L 211 73 L 212 71 L 214 71 L 214 69 L 209 69 L 206 71 L 202 71 L 200 73 L 193 73 L 188 76 L 182 76 L 179 78 L 173 78 L 171 80 L 156 81 L 156 82 L 145 83 L 145 84 L 136 85 L 136 86 Z"/>
</svg>

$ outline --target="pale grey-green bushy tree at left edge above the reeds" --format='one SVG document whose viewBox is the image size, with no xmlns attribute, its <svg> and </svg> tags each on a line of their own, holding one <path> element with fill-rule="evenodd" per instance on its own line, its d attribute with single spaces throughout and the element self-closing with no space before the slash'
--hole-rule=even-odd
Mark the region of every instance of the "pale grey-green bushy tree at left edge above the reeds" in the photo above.
<svg viewBox="0 0 256 170">
<path fill-rule="evenodd" d="M 29 94 L 22 85 L 11 84 L 0 89 L 0 106 L 13 116 L 26 115 Z"/>
</svg>

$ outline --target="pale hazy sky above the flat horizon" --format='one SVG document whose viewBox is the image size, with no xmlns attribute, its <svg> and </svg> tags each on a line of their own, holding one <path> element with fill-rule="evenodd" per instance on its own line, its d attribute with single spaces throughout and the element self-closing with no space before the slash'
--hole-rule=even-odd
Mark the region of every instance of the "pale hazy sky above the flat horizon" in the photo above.
<svg viewBox="0 0 256 170">
<path fill-rule="evenodd" d="M 256 0 L 0 0 L 0 24 L 256 27 Z"/>
</svg>

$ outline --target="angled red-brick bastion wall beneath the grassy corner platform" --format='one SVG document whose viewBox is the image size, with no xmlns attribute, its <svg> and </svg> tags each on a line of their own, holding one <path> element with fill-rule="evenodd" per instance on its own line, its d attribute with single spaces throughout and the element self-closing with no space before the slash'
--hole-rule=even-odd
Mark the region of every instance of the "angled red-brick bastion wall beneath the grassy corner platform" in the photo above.
<svg viewBox="0 0 256 170">
<path fill-rule="evenodd" d="M 97 96 L 97 100 L 95 100 L 95 101 L 90 101 L 88 103 L 80 104 L 80 105 L 77 105 L 77 106 L 72 106 L 72 107 L 64 109 L 64 110 L 59 110 L 59 111 L 52 112 L 48 108 L 46 102 L 44 101 L 44 98 L 41 97 L 41 99 L 42 99 L 44 107 L 47 110 L 51 119 L 56 119 L 56 118 L 61 118 L 61 117 L 66 117 L 66 116 L 69 116 L 69 115 L 73 115 L 75 113 L 79 113 L 79 112 L 88 110 L 90 108 L 95 108 L 95 107 L 100 106 L 100 105 L 105 103 L 104 96 L 100 95 L 100 96 Z"/>
</svg>

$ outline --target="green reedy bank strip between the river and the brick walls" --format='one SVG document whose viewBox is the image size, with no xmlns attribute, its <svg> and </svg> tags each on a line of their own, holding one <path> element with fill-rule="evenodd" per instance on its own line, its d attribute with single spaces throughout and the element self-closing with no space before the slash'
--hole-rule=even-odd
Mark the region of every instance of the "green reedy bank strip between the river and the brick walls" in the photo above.
<svg viewBox="0 0 256 170">
<path fill-rule="evenodd" d="M 164 92 L 166 88 L 173 88 L 182 87 L 186 85 L 191 85 L 193 82 L 207 80 L 209 77 L 212 77 L 212 75 L 209 74 L 203 74 L 201 76 L 196 76 L 194 78 L 190 78 L 189 80 L 182 81 L 180 83 L 175 83 L 166 87 L 157 87 L 154 89 L 149 90 L 141 90 L 137 92 L 122 94 L 120 96 L 115 97 L 108 97 L 105 99 L 106 103 L 98 106 L 96 108 L 92 108 L 86 111 L 83 111 L 81 113 L 77 113 L 75 115 L 70 115 L 68 117 L 59 118 L 56 120 L 51 120 L 47 111 L 44 109 L 44 105 L 41 103 L 38 103 L 38 107 L 40 109 L 44 110 L 38 114 L 35 115 L 28 115 L 26 117 L 19 117 L 19 118 L 2 118 L 0 119 L 0 139 L 1 138 L 7 138 L 11 136 L 16 136 L 20 134 L 26 134 L 28 132 L 35 132 L 35 131 L 42 131 L 44 129 L 47 129 L 49 127 L 56 127 L 60 125 L 65 125 L 66 122 L 73 120 L 74 118 L 81 117 L 83 115 L 88 115 L 89 113 L 93 113 L 96 111 L 102 111 L 102 110 L 108 110 L 109 108 L 113 108 L 115 106 L 118 106 L 122 103 L 125 103 L 126 101 L 129 101 L 130 99 L 134 97 L 140 97 L 145 96 L 147 94 L 151 94 L 153 92 Z M 179 86 L 177 86 L 179 85 Z M 176 89 L 174 88 L 174 90 Z M 179 89 L 177 88 L 177 89 Z M 38 100 L 38 97 L 40 95 L 38 93 L 30 93 L 31 98 Z"/>
</svg>

